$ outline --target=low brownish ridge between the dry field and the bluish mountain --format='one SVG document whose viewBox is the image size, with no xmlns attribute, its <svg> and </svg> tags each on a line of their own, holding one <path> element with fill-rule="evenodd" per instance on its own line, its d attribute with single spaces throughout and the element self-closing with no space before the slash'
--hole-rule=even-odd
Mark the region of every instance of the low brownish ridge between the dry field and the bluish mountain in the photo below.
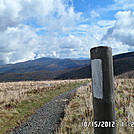
<svg viewBox="0 0 134 134">
<path fill-rule="evenodd" d="M 62 74 L 72 72 L 80 68 L 83 68 L 83 66 L 78 68 L 70 68 L 70 69 L 64 69 L 58 71 L 35 71 L 35 72 L 28 72 L 28 73 L 0 73 L 0 82 L 53 80 L 53 79 L 57 79 L 58 76 L 61 76 Z M 69 77 L 67 79 L 69 79 Z"/>
</svg>

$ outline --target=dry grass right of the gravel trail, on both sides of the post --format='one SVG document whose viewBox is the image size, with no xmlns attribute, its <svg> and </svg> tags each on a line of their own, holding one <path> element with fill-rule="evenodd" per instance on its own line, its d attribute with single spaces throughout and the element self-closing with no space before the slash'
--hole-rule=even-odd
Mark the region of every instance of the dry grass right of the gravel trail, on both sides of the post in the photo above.
<svg viewBox="0 0 134 134">
<path fill-rule="evenodd" d="M 115 80 L 116 121 L 134 122 L 134 79 Z M 91 80 L 78 89 L 77 94 L 65 109 L 65 117 L 57 134 L 93 134 L 93 127 L 84 127 L 82 122 L 93 121 Z M 133 127 L 117 125 L 117 134 L 134 134 Z"/>
</svg>

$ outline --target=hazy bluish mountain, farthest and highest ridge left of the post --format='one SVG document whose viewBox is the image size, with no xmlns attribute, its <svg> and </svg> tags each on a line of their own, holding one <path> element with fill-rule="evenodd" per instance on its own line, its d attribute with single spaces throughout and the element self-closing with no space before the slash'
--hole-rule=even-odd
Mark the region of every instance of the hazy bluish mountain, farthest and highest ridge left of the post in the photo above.
<svg viewBox="0 0 134 134">
<path fill-rule="evenodd" d="M 89 64 L 89 60 L 40 58 L 36 60 L 0 66 L 0 73 L 27 73 L 35 71 L 58 71 Z"/>
</svg>

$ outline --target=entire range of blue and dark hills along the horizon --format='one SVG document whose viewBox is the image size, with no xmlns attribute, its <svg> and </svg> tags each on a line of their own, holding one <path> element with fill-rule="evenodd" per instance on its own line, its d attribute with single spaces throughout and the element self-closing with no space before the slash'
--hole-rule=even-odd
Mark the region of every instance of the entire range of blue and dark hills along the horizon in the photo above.
<svg viewBox="0 0 134 134">
<path fill-rule="evenodd" d="M 114 75 L 134 77 L 134 52 L 113 56 Z M 89 60 L 40 58 L 0 66 L 0 82 L 25 80 L 80 79 L 91 77 Z"/>
</svg>

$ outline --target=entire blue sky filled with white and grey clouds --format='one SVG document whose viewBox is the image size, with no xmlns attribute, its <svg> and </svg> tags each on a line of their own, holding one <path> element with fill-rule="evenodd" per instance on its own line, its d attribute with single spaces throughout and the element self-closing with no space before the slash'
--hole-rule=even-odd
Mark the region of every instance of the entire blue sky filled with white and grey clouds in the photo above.
<svg viewBox="0 0 134 134">
<path fill-rule="evenodd" d="M 134 0 L 0 0 L 0 64 L 134 51 Z"/>
</svg>

